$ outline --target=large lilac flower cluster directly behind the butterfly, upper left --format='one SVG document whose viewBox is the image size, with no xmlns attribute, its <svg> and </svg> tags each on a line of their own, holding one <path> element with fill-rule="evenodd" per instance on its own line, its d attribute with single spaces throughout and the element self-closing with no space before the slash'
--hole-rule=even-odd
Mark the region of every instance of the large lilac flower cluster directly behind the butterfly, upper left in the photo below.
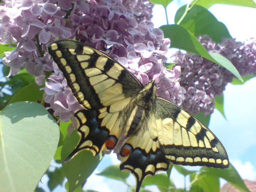
<svg viewBox="0 0 256 192">
<path fill-rule="evenodd" d="M 74 120 L 74 112 L 81 106 L 45 47 L 56 38 L 76 38 L 118 60 L 142 83 L 150 78 L 165 82 L 157 88 L 159 95 L 180 105 L 184 98 L 180 67 L 169 70 L 162 64 L 170 40 L 163 38 L 147 16 L 138 19 L 133 15 L 134 11 L 150 14 L 152 6 L 147 2 L 137 6 L 136 0 L 4 0 L 0 4 L 0 43 L 17 44 L 3 59 L 11 67 L 9 76 L 25 66 L 42 84 L 45 75 L 48 78 L 46 72 L 54 71 L 46 82 L 44 99 L 59 120 Z"/>
</svg>

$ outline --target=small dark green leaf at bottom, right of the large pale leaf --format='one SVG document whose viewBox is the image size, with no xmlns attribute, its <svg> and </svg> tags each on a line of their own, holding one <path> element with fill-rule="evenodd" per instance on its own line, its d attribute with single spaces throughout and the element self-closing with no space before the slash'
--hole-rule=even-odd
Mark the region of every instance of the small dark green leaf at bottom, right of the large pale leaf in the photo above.
<svg viewBox="0 0 256 192">
<path fill-rule="evenodd" d="M 48 187 L 51 191 L 53 191 L 53 189 L 57 185 L 61 185 L 65 178 L 65 174 L 63 172 L 62 167 L 60 167 L 59 169 L 56 168 L 54 172 L 47 172 L 47 175 L 49 177 Z"/>
</svg>

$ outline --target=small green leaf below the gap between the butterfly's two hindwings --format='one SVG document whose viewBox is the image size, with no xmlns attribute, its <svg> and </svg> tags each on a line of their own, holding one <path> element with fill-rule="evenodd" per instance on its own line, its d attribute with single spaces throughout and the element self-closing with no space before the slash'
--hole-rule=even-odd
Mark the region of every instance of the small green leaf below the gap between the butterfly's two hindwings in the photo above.
<svg viewBox="0 0 256 192">
<path fill-rule="evenodd" d="M 110 165 L 106 167 L 101 173 L 97 173 L 97 175 L 109 177 L 115 180 L 127 182 L 127 177 L 129 176 L 128 172 L 121 172 L 120 165 Z"/>
</svg>

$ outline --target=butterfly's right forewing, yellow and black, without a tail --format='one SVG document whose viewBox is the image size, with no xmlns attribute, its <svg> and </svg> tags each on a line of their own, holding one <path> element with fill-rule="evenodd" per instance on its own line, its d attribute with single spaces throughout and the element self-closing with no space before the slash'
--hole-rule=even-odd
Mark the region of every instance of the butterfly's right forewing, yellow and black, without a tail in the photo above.
<svg viewBox="0 0 256 192">
<path fill-rule="evenodd" d="M 179 106 L 157 98 L 158 140 L 165 158 L 180 165 L 226 168 L 229 160 L 218 138 Z"/>
</svg>

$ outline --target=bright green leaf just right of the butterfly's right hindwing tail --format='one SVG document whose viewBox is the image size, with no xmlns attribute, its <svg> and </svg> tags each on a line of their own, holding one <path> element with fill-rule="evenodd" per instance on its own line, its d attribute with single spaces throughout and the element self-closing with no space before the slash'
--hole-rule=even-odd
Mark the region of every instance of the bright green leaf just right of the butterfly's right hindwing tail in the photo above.
<svg viewBox="0 0 256 192">
<path fill-rule="evenodd" d="M 157 185 L 161 191 L 168 191 L 170 186 L 174 184 L 169 180 L 167 174 L 156 174 L 153 177 L 146 177 L 142 187 L 145 185 Z"/>
</svg>

